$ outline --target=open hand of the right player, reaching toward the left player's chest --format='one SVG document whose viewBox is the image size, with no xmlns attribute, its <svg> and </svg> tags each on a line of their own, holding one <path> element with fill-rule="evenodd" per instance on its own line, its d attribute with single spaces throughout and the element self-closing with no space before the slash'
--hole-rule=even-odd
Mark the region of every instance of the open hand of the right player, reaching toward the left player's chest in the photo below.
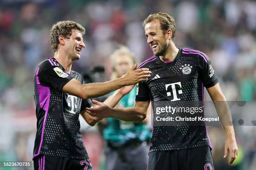
<svg viewBox="0 0 256 170">
<path fill-rule="evenodd" d="M 92 100 L 92 103 L 98 105 L 98 107 L 86 108 L 87 112 L 91 116 L 102 119 L 110 115 L 110 107 L 108 107 L 108 105 L 105 105 L 102 102 L 98 102 L 97 100 Z"/>
</svg>

